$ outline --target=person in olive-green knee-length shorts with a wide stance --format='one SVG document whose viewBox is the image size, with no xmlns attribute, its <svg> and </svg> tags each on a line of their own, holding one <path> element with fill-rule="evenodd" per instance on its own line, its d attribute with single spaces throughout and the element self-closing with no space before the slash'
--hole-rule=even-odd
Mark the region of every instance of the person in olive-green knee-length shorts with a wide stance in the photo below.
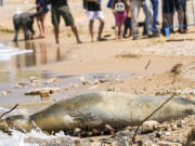
<svg viewBox="0 0 195 146">
<path fill-rule="evenodd" d="M 60 25 L 61 16 L 64 18 L 66 26 L 70 26 L 72 31 L 74 32 L 77 42 L 81 43 L 79 36 L 78 36 L 77 27 L 74 23 L 74 18 L 69 11 L 67 0 L 51 0 L 51 13 L 52 13 L 52 24 L 54 27 L 55 42 L 56 42 L 57 47 L 60 45 L 58 25 Z"/>
</svg>

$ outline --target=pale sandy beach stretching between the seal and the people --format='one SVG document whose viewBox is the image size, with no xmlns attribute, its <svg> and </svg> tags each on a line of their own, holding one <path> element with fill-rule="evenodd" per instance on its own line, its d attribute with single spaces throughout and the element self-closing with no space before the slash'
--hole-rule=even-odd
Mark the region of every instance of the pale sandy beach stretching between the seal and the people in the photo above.
<svg viewBox="0 0 195 146">
<path fill-rule="evenodd" d="M 166 38 L 132 38 L 114 40 L 112 26 L 114 17 L 106 1 L 103 1 L 105 30 L 107 38 L 103 42 L 90 42 L 88 19 L 81 1 L 69 0 L 80 38 L 77 44 L 70 28 L 61 22 L 60 48 L 55 48 L 51 14 L 46 19 L 47 37 L 12 42 L 12 15 L 16 10 L 26 11 L 34 6 L 32 0 L 8 0 L 0 8 L 0 42 L 20 50 L 32 50 L 32 53 L 13 56 L 0 62 L 0 106 L 11 108 L 20 104 L 18 109 L 28 114 L 40 110 L 56 101 L 91 91 L 115 91 L 141 95 L 168 95 L 177 93 L 195 101 L 195 28 L 188 34 L 176 34 Z M 141 13 L 140 21 L 143 19 Z M 160 17 L 159 17 L 160 19 Z M 99 22 L 95 22 L 98 29 Z M 37 24 L 34 24 L 38 36 Z M 140 34 L 142 28 L 140 28 Z M 34 82 L 34 79 L 37 79 Z M 37 88 L 60 88 L 61 92 L 42 99 L 39 95 L 26 96 L 25 93 Z M 185 121 L 185 125 L 168 135 L 178 137 L 181 144 L 195 125 L 195 118 L 188 117 L 172 121 L 171 124 Z M 178 132 L 178 133 L 177 133 Z M 183 135 L 182 135 L 183 133 Z M 93 138 L 96 141 L 96 138 Z M 166 138 L 162 138 L 166 140 Z"/>
</svg>

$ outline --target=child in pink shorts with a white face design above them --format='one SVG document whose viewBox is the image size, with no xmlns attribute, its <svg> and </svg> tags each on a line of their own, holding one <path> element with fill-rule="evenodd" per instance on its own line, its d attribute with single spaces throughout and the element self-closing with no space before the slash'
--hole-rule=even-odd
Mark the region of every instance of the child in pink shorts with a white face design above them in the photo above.
<svg viewBox="0 0 195 146">
<path fill-rule="evenodd" d="M 123 23 L 126 21 L 127 12 L 126 12 L 126 0 L 113 0 L 112 9 L 115 13 L 115 35 L 116 39 L 122 39 L 123 35 Z M 120 34 L 118 34 L 118 29 L 120 27 Z"/>
</svg>

